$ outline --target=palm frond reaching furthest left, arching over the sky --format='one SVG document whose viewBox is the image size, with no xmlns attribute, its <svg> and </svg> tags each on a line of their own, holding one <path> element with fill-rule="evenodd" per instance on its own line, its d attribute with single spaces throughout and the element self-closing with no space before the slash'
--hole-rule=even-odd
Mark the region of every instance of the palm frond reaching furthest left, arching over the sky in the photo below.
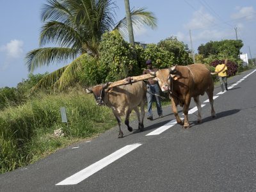
<svg viewBox="0 0 256 192">
<path fill-rule="evenodd" d="M 62 47 L 45 47 L 38 48 L 26 54 L 25 62 L 29 72 L 33 72 L 35 68 L 56 62 L 67 61 L 74 59 L 77 56 L 77 51 L 70 48 Z"/>
</svg>

